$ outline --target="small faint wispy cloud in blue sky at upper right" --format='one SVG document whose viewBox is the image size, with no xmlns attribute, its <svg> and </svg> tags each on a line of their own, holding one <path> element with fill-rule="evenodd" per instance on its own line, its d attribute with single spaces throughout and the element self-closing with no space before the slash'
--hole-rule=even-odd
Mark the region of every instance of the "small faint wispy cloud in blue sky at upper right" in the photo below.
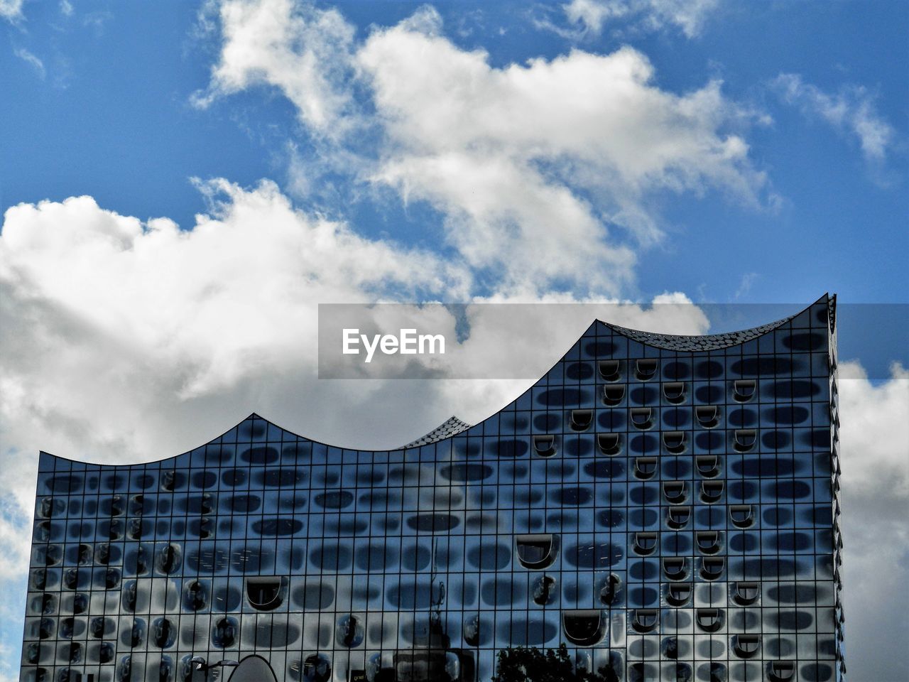
<svg viewBox="0 0 909 682">
<path fill-rule="evenodd" d="M 867 161 L 882 162 L 894 142 L 894 129 L 877 112 L 874 96 L 861 85 L 846 85 L 834 95 L 805 83 L 798 74 L 780 74 L 774 90 L 808 117 L 819 117 L 837 131 L 854 135 Z"/>
</svg>

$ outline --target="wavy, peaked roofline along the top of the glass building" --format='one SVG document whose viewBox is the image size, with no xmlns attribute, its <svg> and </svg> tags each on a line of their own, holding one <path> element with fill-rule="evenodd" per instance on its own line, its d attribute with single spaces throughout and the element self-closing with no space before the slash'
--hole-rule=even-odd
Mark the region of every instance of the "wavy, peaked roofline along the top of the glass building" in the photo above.
<svg viewBox="0 0 909 682">
<path fill-rule="evenodd" d="M 709 350 L 720 350 L 720 349 L 728 348 L 728 347 L 732 347 L 732 346 L 740 346 L 740 345 L 742 345 L 742 344 L 744 344 L 744 343 L 747 343 L 748 341 L 754 340 L 754 338 L 759 338 L 760 336 L 764 336 L 765 334 L 767 334 L 767 333 L 773 331 L 774 329 L 778 328 L 779 326 L 784 325 L 786 322 L 788 322 L 788 321 L 794 319 L 795 317 L 802 315 L 805 311 L 811 310 L 812 307 L 814 307 L 814 306 L 816 306 L 817 304 L 822 303 L 822 302 L 824 302 L 824 301 L 826 301 L 826 303 L 827 303 L 827 305 L 828 305 L 828 309 L 831 311 L 832 319 L 835 319 L 834 316 L 835 316 L 835 306 L 836 306 L 836 295 L 831 296 L 829 293 L 824 293 L 824 296 L 821 296 L 820 298 L 818 298 L 816 301 L 814 301 L 814 303 L 809 304 L 808 306 L 805 306 L 802 310 L 797 311 L 796 313 L 794 313 L 794 314 L 791 315 L 791 316 L 783 317 L 782 319 L 776 320 L 775 322 L 767 323 L 767 324 L 765 324 L 765 325 L 760 325 L 760 326 L 754 326 L 754 327 L 751 327 L 751 328 L 749 328 L 749 329 L 742 329 L 742 330 L 735 331 L 735 332 L 724 332 L 724 333 L 722 333 L 722 334 L 711 334 L 711 335 L 704 335 L 704 336 L 698 336 L 698 335 L 673 335 L 673 334 L 659 334 L 659 333 L 656 333 L 656 332 L 644 332 L 644 331 L 637 330 L 637 329 L 629 329 L 628 327 L 619 326 L 619 325 L 614 325 L 614 324 L 612 324 L 612 323 L 604 322 L 603 320 L 597 318 L 597 319 L 594 320 L 593 323 L 591 323 L 590 326 L 587 326 L 587 328 L 584 329 L 584 333 L 581 334 L 581 336 L 578 336 L 578 338 L 574 341 L 574 343 L 573 343 L 571 346 L 569 346 L 568 349 L 567 349 L 561 356 L 558 356 L 558 359 L 556 359 L 556 360 L 554 361 L 554 363 L 549 367 L 549 369 L 547 369 L 539 378 L 537 378 L 537 379 L 534 381 L 534 383 L 531 384 L 531 386 L 534 386 L 537 382 L 540 381 L 541 378 L 543 378 L 544 376 L 546 376 L 547 374 L 549 374 L 549 372 L 552 371 L 552 369 L 554 368 L 554 366 L 556 366 L 556 365 L 558 365 L 560 362 L 562 362 L 562 360 L 564 359 L 564 356 L 567 355 L 567 353 L 571 350 L 571 348 L 574 347 L 574 345 L 577 344 L 582 338 L 584 338 L 584 336 L 585 336 L 585 335 L 587 334 L 587 332 L 590 330 L 591 326 L 595 326 L 596 324 L 602 324 L 602 325 L 604 325 L 604 326 L 608 326 L 608 327 L 610 327 L 611 329 L 614 329 L 614 331 L 618 332 L 618 333 L 621 334 L 622 336 L 626 336 L 627 338 L 629 338 L 629 339 L 631 339 L 631 340 L 633 340 L 633 341 L 636 341 L 636 342 L 638 342 L 638 343 L 644 344 L 644 346 L 650 346 L 650 347 L 652 347 L 652 348 L 656 348 L 656 349 L 660 349 L 660 350 L 675 350 L 675 351 L 677 351 L 677 352 L 684 352 L 684 353 L 690 353 L 690 352 L 706 352 L 706 351 L 709 351 Z M 830 323 L 830 326 L 833 326 L 833 322 Z M 754 333 L 754 335 L 752 336 L 753 333 Z M 633 336 L 633 335 L 634 335 L 634 336 Z M 729 337 L 729 336 L 747 336 L 747 337 L 746 337 L 746 338 L 741 338 L 740 340 L 735 340 L 733 343 L 728 343 L 728 344 L 726 344 L 726 345 L 724 345 L 724 346 L 712 346 L 712 347 L 709 347 L 709 348 L 692 347 L 692 348 L 686 348 L 686 349 L 682 350 L 682 349 L 679 349 L 679 348 L 673 347 L 673 346 L 668 346 L 668 347 L 667 347 L 667 346 L 660 346 L 660 345 L 657 345 L 658 343 L 670 343 L 670 342 L 672 342 L 672 341 L 674 341 L 674 340 L 676 340 L 676 339 L 683 340 L 684 342 L 689 342 L 689 343 L 690 343 L 692 340 L 694 340 L 694 339 L 716 339 L 716 340 L 718 340 L 720 343 L 723 343 L 723 342 L 727 339 L 727 337 Z M 337 450 L 346 450 L 346 451 L 353 451 L 353 452 L 361 452 L 361 453 L 365 453 L 365 454 L 400 452 L 400 451 L 403 451 L 403 450 L 406 450 L 406 449 L 413 449 L 413 447 L 419 447 L 419 446 L 424 446 L 424 445 L 435 445 L 436 443 L 444 442 L 445 440 L 449 440 L 449 439 L 451 439 L 451 438 L 454 438 L 454 436 L 458 436 L 459 434 L 464 433 L 464 431 L 467 431 L 467 430 L 469 430 L 470 428 L 473 428 L 474 426 L 483 424 L 484 421 L 486 421 L 487 419 L 489 419 L 489 418 L 492 417 L 492 416 L 497 415 L 497 414 L 498 414 L 499 412 L 501 412 L 506 406 L 509 406 L 511 403 L 514 403 L 514 401 L 517 400 L 520 396 L 524 395 L 524 393 L 525 393 L 527 390 L 528 390 L 528 388 L 525 388 L 524 391 L 522 391 L 520 394 L 518 394 L 517 396 L 514 396 L 514 398 L 512 398 L 512 399 L 509 400 L 509 401 L 507 401 L 503 406 L 498 407 L 494 412 L 492 412 L 491 414 L 489 414 L 489 415 L 487 415 L 487 416 L 484 416 L 483 419 L 480 419 L 479 421 L 477 421 L 477 422 L 476 422 L 475 424 L 473 424 L 473 425 L 466 425 L 465 422 L 461 421 L 460 419 L 457 419 L 456 416 L 451 416 L 451 417 L 449 417 L 447 420 L 445 420 L 445 422 L 443 422 L 441 425 L 436 426 L 435 428 L 431 429 L 431 430 L 430 430 L 429 432 L 427 432 L 424 436 L 420 436 L 420 437 L 418 437 L 418 438 L 415 438 L 414 440 L 410 441 L 410 442 L 409 442 L 407 445 L 405 445 L 405 446 L 396 446 L 396 447 L 387 447 L 387 448 L 375 448 L 375 449 L 372 449 L 372 448 L 362 448 L 362 447 L 346 447 L 346 446 L 338 446 L 338 445 L 334 445 L 334 444 L 332 444 L 332 443 L 326 443 L 325 441 L 316 440 L 315 438 L 310 438 L 309 436 L 302 436 L 302 435 L 300 435 L 300 434 L 298 434 L 298 433 L 295 433 L 294 431 L 291 431 L 291 430 L 288 429 L 288 428 L 285 428 L 284 426 L 280 426 L 280 425 L 278 425 L 278 424 L 275 424 L 275 422 L 273 422 L 273 421 L 271 421 L 271 420 L 265 418 L 264 416 L 261 416 L 261 415 L 255 413 L 255 412 L 252 412 L 252 413 L 249 414 L 249 416 L 246 416 L 245 418 L 241 419 L 241 420 L 240 420 L 239 422 L 237 422 L 234 426 L 231 426 L 230 428 L 226 429 L 225 431 L 223 431 L 223 432 L 222 432 L 221 434 L 219 434 L 218 436 L 214 436 L 214 437 L 211 438 L 210 440 L 205 441 L 205 443 L 202 443 L 202 444 L 200 444 L 200 445 L 198 445 L 198 446 L 195 446 L 194 448 L 192 448 L 192 449 L 190 449 L 190 450 L 185 450 L 185 451 L 183 451 L 183 452 L 177 453 L 176 455 L 165 456 L 165 457 L 161 457 L 160 459 L 151 459 L 151 460 L 148 460 L 148 461 L 134 462 L 134 463 L 132 463 L 132 464 L 130 464 L 130 463 L 120 463 L 120 464 L 106 464 L 106 463 L 105 463 L 105 464 L 101 464 L 101 463 L 89 462 L 89 461 L 86 461 L 86 460 L 84 460 L 84 459 L 74 459 L 74 458 L 72 458 L 72 457 L 67 457 L 67 456 L 62 456 L 62 455 L 55 455 L 55 454 L 53 454 L 53 453 L 46 452 L 45 450 L 40 450 L 40 451 L 39 451 L 39 471 L 42 470 L 42 467 L 41 467 L 41 465 L 40 465 L 40 460 L 43 459 L 43 458 L 45 458 L 45 457 L 52 457 L 52 458 L 54 458 L 55 460 L 63 460 L 63 461 L 65 461 L 65 462 L 73 462 L 73 463 L 75 463 L 75 464 L 80 464 L 80 465 L 85 465 L 85 466 L 97 466 L 97 467 L 99 467 L 99 468 L 119 468 L 119 467 L 127 467 L 127 466 L 143 466 L 143 465 L 149 465 L 149 464 L 159 464 L 159 463 L 165 462 L 165 461 L 167 461 L 167 460 L 169 460 L 169 459 L 175 459 L 176 457 L 179 457 L 179 456 L 189 455 L 189 454 L 192 453 L 195 449 L 197 449 L 197 448 L 199 448 L 199 447 L 204 447 L 204 446 L 206 446 L 206 445 L 209 445 L 209 444 L 212 443 L 213 441 L 217 440 L 218 438 L 221 438 L 221 437 L 225 436 L 226 434 L 228 434 L 228 433 L 230 433 L 231 431 L 233 431 L 235 428 L 237 428 L 237 427 L 239 427 L 240 425 L 242 425 L 245 421 L 248 421 L 248 420 L 250 420 L 250 419 L 261 419 L 262 421 L 264 421 L 264 422 L 265 422 L 267 425 L 269 425 L 269 426 L 275 426 L 276 428 L 280 428 L 282 431 L 285 431 L 285 433 L 290 434 L 291 436 L 295 436 L 295 437 L 297 437 L 297 438 L 300 438 L 300 439 L 302 439 L 302 440 L 305 440 L 305 441 L 307 441 L 307 442 L 309 442 L 309 443 L 313 443 L 314 445 L 318 445 L 318 446 L 325 446 L 325 447 L 335 448 L 335 449 L 337 449 Z M 465 425 L 464 428 L 462 428 L 461 430 L 459 430 L 459 431 L 457 431 L 456 433 L 453 433 L 453 434 L 451 434 L 451 435 L 449 435 L 449 436 L 445 436 L 445 437 L 442 437 L 442 438 L 432 439 L 431 436 L 432 436 L 436 431 L 438 431 L 440 428 L 444 427 L 445 425 L 449 424 L 453 419 L 456 420 L 457 422 L 460 422 L 461 424 Z M 415 444 L 420 443 L 420 441 L 423 441 L 423 440 L 425 440 L 425 439 L 428 439 L 427 442 L 421 443 L 420 445 L 415 445 Z M 413 446 L 413 447 L 412 447 L 412 446 Z"/>
</svg>

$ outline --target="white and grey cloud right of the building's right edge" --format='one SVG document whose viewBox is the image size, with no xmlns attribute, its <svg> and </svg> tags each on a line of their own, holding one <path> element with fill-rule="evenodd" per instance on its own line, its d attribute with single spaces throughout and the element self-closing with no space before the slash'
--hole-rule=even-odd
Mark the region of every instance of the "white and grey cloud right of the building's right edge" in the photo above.
<svg viewBox="0 0 909 682">
<path fill-rule="evenodd" d="M 846 665 L 861 679 L 899 679 L 906 660 L 894 632 L 909 629 L 909 370 L 891 376 L 875 385 L 840 364 Z"/>
</svg>

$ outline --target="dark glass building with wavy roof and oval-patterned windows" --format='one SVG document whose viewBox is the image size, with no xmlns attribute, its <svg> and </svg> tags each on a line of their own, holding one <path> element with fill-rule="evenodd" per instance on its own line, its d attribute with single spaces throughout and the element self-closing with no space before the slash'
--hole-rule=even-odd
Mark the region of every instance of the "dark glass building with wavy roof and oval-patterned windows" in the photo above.
<svg viewBox="0 0 909 682">
<path fill-rule="evenodd" d="M 42 453 L 21 679 L 488 680 L 564 642 L 617 680 L 842 680 L 834 313 L 595 322 L 390 451 L 252 415 L 150 464 Z"/>
</svg>

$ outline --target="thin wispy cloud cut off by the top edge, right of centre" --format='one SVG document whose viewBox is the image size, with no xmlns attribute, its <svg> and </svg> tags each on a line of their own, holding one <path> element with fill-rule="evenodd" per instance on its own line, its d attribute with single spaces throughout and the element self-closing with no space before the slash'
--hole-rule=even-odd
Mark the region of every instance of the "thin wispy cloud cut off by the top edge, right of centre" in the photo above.
<svg viewBox="0 0 909 682">
<path fill-rule="evenodd" d="M 572 0 L 563 9 L 571 24 L 594 35 L 614 22 L 631 21 L 654 31 L 672 27 L 692 38 L 717 5 L 719 0 Z"/>
</svg>

